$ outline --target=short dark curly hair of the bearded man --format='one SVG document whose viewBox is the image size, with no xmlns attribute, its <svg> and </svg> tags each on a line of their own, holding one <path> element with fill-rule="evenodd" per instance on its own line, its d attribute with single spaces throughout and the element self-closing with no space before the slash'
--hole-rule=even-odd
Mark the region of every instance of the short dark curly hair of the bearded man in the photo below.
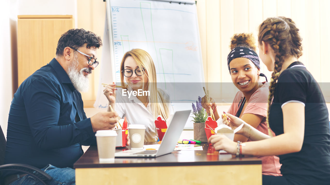
<svg viewBox="0 0 330 185">
<path fill-rule="evenodd" d="M 80 48 L 84 44 L 86 47 L 100 48 L 102 46 L 101 37 L 91 31 L 84 29 L 71 29 L 65 32 L 57 42 L 56 56 L 62 56 L 65 47 Z"/>
</svg>

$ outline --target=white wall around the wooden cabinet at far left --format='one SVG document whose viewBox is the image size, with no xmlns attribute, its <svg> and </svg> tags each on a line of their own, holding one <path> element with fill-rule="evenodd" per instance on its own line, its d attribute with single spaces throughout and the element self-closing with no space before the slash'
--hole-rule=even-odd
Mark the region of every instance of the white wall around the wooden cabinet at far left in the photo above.
<svg viewBox="0 0 330 185">
<path fill-rule="evenodd" d="M 0 11 L 0 125 L 7 136 L 8 114 L 17 86 L 17 15 L 73 15 L 77 25 L 77 0 L 2 1 Z M 15 65 L 16 64 L 16 65 Z M 14 86 L 14 87 L 13 87 Z"/>
</svg>

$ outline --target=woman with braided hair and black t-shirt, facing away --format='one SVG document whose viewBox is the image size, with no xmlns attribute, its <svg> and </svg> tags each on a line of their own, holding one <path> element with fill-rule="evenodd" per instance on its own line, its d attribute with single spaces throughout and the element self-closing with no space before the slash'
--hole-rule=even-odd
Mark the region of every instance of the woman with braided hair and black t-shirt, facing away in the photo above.
<svg viewBox="0 0 330 185">
<path fill-rule="evenodd" d="M 259 27 L 259 55 L 272 73 L 267 122 L 276 136 L 254 129 L 227 114 L 228 126 L 244 124 L 239 134 L 252 142 L 211 137 L 217 150 L 240 156 L 279 155 L 283 176 L 263 175 L 263 184 L 329 184 L 329 115 L 316 80 L 303 63 L 301 37 L 295 23 L 285 17 L 267 18 Z"/>
</svg>

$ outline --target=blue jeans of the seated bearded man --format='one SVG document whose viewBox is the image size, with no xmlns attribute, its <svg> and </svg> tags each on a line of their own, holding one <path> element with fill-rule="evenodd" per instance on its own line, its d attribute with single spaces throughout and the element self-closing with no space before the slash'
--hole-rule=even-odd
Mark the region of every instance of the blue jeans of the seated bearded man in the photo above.
<svg viewBox="0 0 330 185">
<path fill-rule="evenodd" d="M 75 170 L 72 168 L 56 168 L 49 164 L 41 170 L 53 177 L 52 180 L 46 181 L 46 183 L 49 185 L 76 184 Z M 31 175 L 25 175 L 24 177 L 10 183 L 10 185 L 42 185 L 42 183 Z"/>
</svg>

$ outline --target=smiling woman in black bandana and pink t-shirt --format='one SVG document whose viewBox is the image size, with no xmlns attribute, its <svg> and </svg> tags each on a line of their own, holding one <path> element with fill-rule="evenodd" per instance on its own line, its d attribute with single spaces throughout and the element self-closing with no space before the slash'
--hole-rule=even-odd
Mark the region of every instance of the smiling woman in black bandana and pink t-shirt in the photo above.
<svg viewBox="0 0 330 185">
<path fill-rule="evenodd" d="M 252 34 L 235 34 L 231 38 L 230 49 L 227 57 L 228 69 L 234 85 L 240 91 L 237 92 L 228 113 L 236 115 L 257 130 L 268 134 L 266 118 L 269 85 L 266 83 L 267 77 L 260 73 L 259 57 L 255 52 L 255 39 Z M 266 81 L 260 82 L 260 76 L 266 77 Z M 212 107 L 215 119 L 220 118 L 213 98 L 208 102 L 204 96 L 202 106 L 209 110 L 208 112 Z M 249 136 L 235 134 L 234 141 L 246 142 L 251 140 Z M 277 156 L 262 156 L 260 159 L 262 160 L 262 174 L 281 175 L 281 165 Z"/>
</svg>

